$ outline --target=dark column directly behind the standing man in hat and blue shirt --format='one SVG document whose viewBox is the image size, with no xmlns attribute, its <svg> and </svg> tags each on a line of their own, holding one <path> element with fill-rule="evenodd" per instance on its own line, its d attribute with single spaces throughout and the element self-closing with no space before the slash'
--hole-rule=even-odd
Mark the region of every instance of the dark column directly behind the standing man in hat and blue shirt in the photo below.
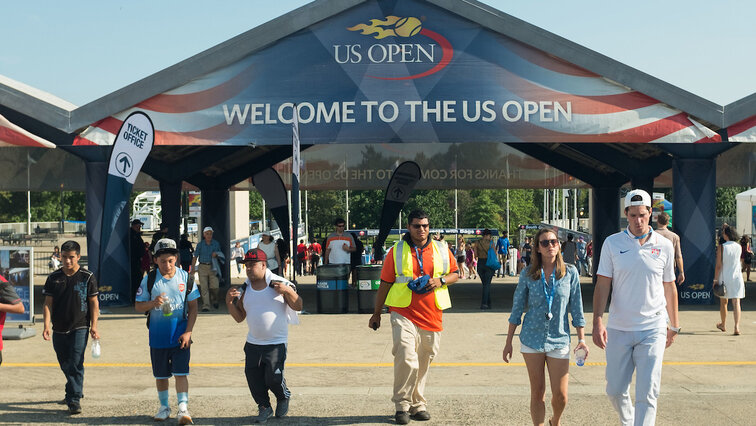
<svg viewBox="0 0 756 426">
<path fill-rule="evenodd" d="M 230 216 L 228 213 L 228 189 L 203 189 L 202 190 L 202 223 L 200 224 L 200 238 L 202 229 L 206 226 L 213 228 L 213 238 L 218 240 L 221 250 L 226 256 L 223 264 L 223 282 L 225 285 L 231 282 L 231 233 Z M 223 293 L 221 293 L 223 294 Z"/>
</svg>

